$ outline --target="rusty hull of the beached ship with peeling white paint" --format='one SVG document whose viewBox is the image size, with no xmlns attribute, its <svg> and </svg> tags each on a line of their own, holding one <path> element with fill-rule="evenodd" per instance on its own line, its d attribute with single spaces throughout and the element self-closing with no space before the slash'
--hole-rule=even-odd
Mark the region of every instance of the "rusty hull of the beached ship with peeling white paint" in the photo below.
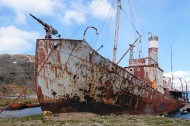
<svg viewBox="0 0 190 126">
<path fill-rule="evenodd" d="M 99 55 L 85 40 L 38 39 L 35 84 L 43 111 L 160 114 L 183 107 Z"/>
</svg>

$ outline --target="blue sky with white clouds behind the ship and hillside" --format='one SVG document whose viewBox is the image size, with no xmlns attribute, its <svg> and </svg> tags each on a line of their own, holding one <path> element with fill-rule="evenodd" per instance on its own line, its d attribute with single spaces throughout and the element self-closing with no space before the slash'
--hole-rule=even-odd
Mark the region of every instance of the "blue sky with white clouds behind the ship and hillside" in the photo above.
<svg viewBox="0 0 190 126">
<path fill-rule="evenodd" d="M 141 43 L 137 43 L 134 49 L 134 56 L 138 57 L 142 48 L 141 56 L 147 57 L 148 32 L 151 32 L 159 38 L 158 62 L 165 75 L 171 76 L 172 47 L 174 76 L 190 81 L 190 1 L 121 0 L 121 5 L 117 61 L 138 37 L 134 34 L 132 22 L 142 35 Z M 29 14 L 51 24 L 63 38 L 71 38 L 88 17 L 72 38 L 82 39 L 86 27 L 96 27 L 101 34 L 96 36 L 95 31 L 89 29 L 86 41 L 94 49 L 103 44 L 99 53 L 112 60 L 116 0 L 114 4 L 112 0 L 0 0 L 1 54 L 35 54 L 36 39 L 44 38 L 45 31 Z M 127 66 L 128 57 L 129 54 L 119 65 Z M 175 82 L 179 88 L 179 79 L 176 78 Z"/>
</svg>

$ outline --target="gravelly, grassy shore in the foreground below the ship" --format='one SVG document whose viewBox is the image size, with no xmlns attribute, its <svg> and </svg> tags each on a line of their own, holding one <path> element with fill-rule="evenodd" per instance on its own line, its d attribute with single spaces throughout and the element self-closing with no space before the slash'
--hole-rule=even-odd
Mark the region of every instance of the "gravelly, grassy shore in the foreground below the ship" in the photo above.
<svg viewBox="0 0 190 126">
<path fill-rule="evenodd" d="M 153 115 L 97 115 L 93 113 L 39 114 L 0 119 L 1 126 L 189 126 L 188 119 Z"/>
</svg>

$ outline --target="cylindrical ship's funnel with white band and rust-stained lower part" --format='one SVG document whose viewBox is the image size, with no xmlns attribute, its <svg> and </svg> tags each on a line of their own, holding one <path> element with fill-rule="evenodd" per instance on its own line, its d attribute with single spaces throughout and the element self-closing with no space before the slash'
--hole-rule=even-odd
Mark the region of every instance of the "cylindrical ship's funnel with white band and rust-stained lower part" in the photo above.
<svg viewBox="0 0 190 126">
<path fill-rule="evenodd" d="M 148 46 L 148 64 L 158 64 L 158 37 L 151 36 L 148 38 L 149 46 Z"/>
</svg>

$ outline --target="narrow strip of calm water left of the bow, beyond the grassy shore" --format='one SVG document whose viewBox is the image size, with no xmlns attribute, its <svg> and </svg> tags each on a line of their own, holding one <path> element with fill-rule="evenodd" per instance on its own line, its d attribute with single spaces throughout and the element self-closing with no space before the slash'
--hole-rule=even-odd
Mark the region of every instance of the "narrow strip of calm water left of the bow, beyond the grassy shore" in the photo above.
<svg viewBox="0 0 190 126">
<path fill-rule="evenodd" d="M 25 108 L 21 110 L 5 110 L 2 113 L 0 113 L 0 118 L 17 118 L 40 113 L 42 113 L 40 107 Z"/>
</svg>

